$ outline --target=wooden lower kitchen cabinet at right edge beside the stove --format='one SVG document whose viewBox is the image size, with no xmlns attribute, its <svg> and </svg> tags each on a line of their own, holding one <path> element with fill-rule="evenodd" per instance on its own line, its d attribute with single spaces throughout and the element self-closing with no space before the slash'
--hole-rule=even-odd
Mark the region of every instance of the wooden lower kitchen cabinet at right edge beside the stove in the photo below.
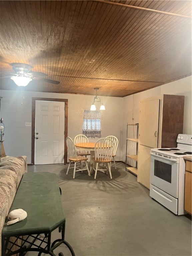
<svg viewBox="0 0 192 256">
<path fill-rule="evenodd" d="M 192 162 L 191 160 L 187 160 L 186 158 L 186 166 L 185 166 L 185 201 L 184 201 L 184 210 L 190 214 L 192 214 Z"/>
</svg>

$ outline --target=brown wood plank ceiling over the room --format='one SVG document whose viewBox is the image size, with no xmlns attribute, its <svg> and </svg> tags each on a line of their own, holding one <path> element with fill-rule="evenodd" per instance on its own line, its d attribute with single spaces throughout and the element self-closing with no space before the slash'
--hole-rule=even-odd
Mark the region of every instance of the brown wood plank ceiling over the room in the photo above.
<svg viewBox="0 0 192 256">
<path fill-rule="evenodd" d="M 33 80 L 26 91 L 94 95 L 98 87 L 98 95 L 124 97 L 189 76 L 191 5 L 183 0 L 0 1 L 0 88 L 20 88 L 2 78 L 14 73 L 14 62 L 60 81 Z"/>
</svg>

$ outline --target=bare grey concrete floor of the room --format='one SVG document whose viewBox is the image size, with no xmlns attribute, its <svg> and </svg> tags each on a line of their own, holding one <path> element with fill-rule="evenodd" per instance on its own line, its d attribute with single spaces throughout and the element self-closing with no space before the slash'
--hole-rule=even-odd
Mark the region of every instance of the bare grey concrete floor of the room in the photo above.
<svg viewBox="0 0 192 256">
<path fill-rule="evenodd" d="M 73 179 L 72 169 L 68 175 L 66 170 L 64 164 L 28 166 L 28 172 L 57 174 L 66 215 L 65 240 L 76 256 L 192 255 L 191 216 L 175 216 L 151 199 L 123 163 L 117 163 L 117 170 L 112 167 L 113 179 L 98 172 L 94 180 L 86 171 Z M 58 238 L 55 230 L 52 240 Z M 59 252 L 70 255 L 64 245 L 54 251 Z"/>
</svg>

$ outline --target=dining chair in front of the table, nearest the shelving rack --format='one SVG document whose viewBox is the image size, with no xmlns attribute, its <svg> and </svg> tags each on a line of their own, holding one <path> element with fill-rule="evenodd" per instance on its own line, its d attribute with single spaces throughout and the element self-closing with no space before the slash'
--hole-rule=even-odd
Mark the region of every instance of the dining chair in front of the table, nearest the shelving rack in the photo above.
<svg viewBox="0 0 192 256">
<path fill-rule="evenodd" d="M 101 138 L 98 139 L 95 143 L 95 157 L 92 158 L 94 162 L 93 170 L 95 171 L 95 177 L 97 176 L 97 171 L 101 171 L 107 173 L 109 170 L 110 178 L 112 179 L 111 175 L 111 157 L 113 155 L 113 146 L 114 143 L 109 138 Z M 100 164 L 105 163 L 107 165 L 107 169 L 102 169 Z M 98 169 L 98 167 L 100 169 Z"/>
</svg>

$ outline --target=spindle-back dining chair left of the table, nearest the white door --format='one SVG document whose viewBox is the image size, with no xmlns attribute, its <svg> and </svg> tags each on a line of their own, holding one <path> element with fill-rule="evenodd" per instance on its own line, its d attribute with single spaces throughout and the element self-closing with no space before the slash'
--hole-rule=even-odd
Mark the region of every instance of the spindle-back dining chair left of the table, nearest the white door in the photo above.
<svg viewBox="0 0 192 256">
<path fill-rule="evenodd" d="M 86 157 L 84 157 L 84 156 L 78 156 L 77 155 L 75 144 L 74 144 L 73 140 L 70 137 L 66 138 L 66 144 L 67 144 L 68 159 L 69 159 L 69 166 L 67 168 L 66 175 L 68 174 L 69 169 L 72 168 L 72 167 L 70 167 L 71 162 L 74 162 L 73 179 L 75 179 L 75 172 L 78 172 L 78 171 L 83 172 L 84 170 L 87 170 L 88 171 L 88 176 L 90 176 L 89 168 L 88 168 L 88 165 L 87 165 L 87 160 L 88 159 Z M 84 161 L 85 164 L 86 164 L 86 168 L 85 169 L 82 168 L 82 164 L 81 164 L 82 161 Z M 76 163 L 80 163 L 80 167 L 81 168 L 77 167 Z"/>
</svg>

